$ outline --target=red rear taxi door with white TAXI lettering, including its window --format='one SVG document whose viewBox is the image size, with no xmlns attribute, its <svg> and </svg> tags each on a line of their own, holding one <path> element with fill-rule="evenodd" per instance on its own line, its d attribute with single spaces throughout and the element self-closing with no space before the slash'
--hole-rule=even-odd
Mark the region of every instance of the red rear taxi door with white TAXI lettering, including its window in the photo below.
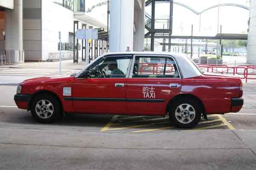
<svg viewBox="0 0 256 170">
<path fill-rule="evenodd" d="M 163 116 L 169 100 L 181 90 L 182 79 L 175 59 L 136 55 L 127 80 L 128 114 Z"/>
</svg>

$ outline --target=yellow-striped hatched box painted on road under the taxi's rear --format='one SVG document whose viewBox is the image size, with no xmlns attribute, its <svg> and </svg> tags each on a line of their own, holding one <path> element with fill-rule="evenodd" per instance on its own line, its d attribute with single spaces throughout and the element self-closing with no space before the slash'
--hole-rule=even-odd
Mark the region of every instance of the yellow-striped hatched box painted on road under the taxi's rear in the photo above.
<svg viewBox="0 0 256 170">
<path fill-rule="evenodd" d="M 204 129 L 235 129 L 227 120 L 218 114 L 212 114 L 207 116 L 209 119 L 202 119 L 198 125 L 191 130 L 204 130 Z M 154 132 L 159 130 L 185 130 L 176 128 L 171 125 L 171 121 L 166 117 L 152 117 L 152 116 L 113 116 L 110 122 L 102 128 L 102 132 L 124 130 L 132 133 Z M 152 122 L 153 121 L 153 122 Z M 187 130 L 187 129 L 186 129 Z"/>
</svg>

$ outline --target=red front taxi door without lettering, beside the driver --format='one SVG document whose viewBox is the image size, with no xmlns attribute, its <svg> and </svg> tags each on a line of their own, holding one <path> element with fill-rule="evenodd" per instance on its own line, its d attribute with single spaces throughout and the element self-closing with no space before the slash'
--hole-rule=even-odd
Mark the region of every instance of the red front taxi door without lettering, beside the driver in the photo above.
<svg viewBox="0 0 256 170">
<path fill-rule="evenodd" d="M 111 71 L 108 70 L 105 63 L 111 62 L 113 64 L 113 61 L 116 62 L 117 68 L 123 72 L 122 75 L 111 75 Z M 126 111 L 126 84 L 131 61 L 131 55 L 102 57 L 88 69 L 104 67 L 104 76 L 92 75 L 76 78 L 73 84 L 75 111 L 79 113 L 124 114 Z"/>
</svg>

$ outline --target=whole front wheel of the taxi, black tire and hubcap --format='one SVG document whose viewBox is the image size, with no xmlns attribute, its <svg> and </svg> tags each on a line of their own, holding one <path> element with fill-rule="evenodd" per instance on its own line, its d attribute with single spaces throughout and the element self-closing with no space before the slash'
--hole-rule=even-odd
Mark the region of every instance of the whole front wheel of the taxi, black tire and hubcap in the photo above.
<svg viewBox="0 0 256 170">
<path fill-rule="evenodd" d="M 35 96 L 31 105 L 32 117 L 39 123 L 53 123 L 61 118 L 61 103 L 55 96 L 42 94 Z"/>
</svg>

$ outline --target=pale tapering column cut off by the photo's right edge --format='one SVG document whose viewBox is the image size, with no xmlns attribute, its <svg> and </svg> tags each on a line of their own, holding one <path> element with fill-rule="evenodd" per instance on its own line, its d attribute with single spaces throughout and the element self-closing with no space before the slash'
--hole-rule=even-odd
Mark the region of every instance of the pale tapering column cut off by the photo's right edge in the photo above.
<svg viewBox="0 0 256 170">
<path fill-rule="evenodd" d="M 256 0 L 250 0 L 250 26 L 247 45 L 247 62 L 256 64 Z"/>
</svg>

